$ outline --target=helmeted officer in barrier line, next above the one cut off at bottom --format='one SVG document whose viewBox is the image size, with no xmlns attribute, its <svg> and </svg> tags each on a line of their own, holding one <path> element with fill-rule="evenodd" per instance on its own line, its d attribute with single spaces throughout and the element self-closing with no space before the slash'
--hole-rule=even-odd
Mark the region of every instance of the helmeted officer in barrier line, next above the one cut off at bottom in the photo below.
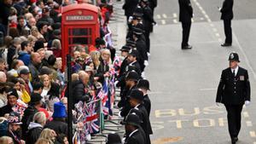
<svg viewBox="0 0 256 144">
<path fill-rule="evenodd" d="M 143 105 L 143 92 L 139 89 L 132 89 L 130 94 L 130 105 L 131 111 L 129 113 L 135 112 L 137 116 L 142 120 L 141 127 L 145 132 L 146 135 L 146 143 L 150 144 L 150 136 L 153 134 L 150 120 L 148 118 L 148 112 Z"/>
</svg>

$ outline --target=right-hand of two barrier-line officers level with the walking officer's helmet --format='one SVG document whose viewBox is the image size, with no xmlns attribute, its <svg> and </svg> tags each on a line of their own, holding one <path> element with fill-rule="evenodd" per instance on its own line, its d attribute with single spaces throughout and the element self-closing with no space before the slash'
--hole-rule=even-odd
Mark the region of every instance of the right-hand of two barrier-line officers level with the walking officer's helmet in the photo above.
<svg viewBox="0 0 256 144">
<path fill-rule="evenodd" d="M 127 60 L 128 60 L 128 66 L 135 66 L 136 67 L 136 72 L 138 75 L 141 76 L 142 74 L 142 69 L 141 69 L 141 65 L 139 64 L 138 60 L 138 51 L 137 49 L 130 49 Z M 127 66 L 125 67 L 125 71 L 127 71 Z"/>
</svg>

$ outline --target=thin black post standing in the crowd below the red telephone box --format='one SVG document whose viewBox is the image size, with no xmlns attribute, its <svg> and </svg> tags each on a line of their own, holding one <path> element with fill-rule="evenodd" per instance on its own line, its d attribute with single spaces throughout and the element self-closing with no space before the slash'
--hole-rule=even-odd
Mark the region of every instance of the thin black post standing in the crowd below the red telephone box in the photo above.
<svg viewBox="0 0 256 144">
<path fill-rule="evenodd" d="M 70 49 L 69 49 L 70 51 Z M 71 55 L 70 52 L 67 55 L 67 130 L 68 130 L 68 142 L 73 143 L 73 91 L 72 91 L 72 79 L 71 79 Z"/>
</svg>

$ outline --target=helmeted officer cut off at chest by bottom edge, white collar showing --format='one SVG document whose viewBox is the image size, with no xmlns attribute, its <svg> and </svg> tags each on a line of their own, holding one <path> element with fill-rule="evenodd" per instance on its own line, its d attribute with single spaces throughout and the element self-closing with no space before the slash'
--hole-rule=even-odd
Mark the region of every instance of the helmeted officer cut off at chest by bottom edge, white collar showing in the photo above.
<svg viewBox="0 0 256 144">
<path fill-rule="evenodd" d="M 131 113 L 125 119 L 125 144 L 145 144 L 146 136 L 141 129 L 141 119 L 136 113 Z"/>
</svg>

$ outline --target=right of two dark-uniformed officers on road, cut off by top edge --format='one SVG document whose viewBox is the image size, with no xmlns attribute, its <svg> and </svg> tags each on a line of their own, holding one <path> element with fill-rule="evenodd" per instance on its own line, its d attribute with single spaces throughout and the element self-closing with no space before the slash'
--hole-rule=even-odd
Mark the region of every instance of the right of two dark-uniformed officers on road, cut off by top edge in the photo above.
<svg viewBox="0 0 256 144">
<path fill-rule="evenodd" d="M 232 28 L 231 20 L 234 17 L 233 14 L 233 3 L 234 0 L 224 0 L 222 8 L 219 8 L 221 13 L 221 20 L 224 21 L 224 33 L 225 33 L 225 43 L 221 44 L 223 47 L 229 47 L 232 45 Z"/>
</svg>

